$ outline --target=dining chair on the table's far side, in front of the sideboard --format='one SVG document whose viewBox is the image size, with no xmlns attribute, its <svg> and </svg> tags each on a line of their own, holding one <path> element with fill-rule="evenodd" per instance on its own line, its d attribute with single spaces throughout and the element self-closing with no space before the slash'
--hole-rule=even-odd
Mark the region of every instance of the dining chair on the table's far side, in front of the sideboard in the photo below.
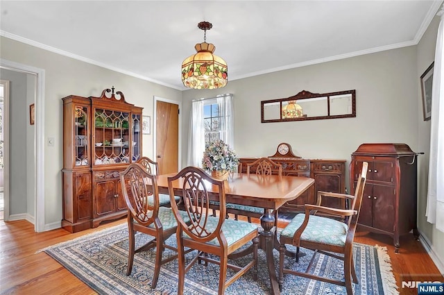
<svg viewBox="0 0 444 295">
<path fill-rule="evenodd" d="M 247 164 L 247 175 L 250 175 L 250 172 L 253 173 L 252 167 L 255 167 L 255 174 L 257 175 L 272 175 L 276 174 L 282 176 L 282 165 L 274 162 L 270 158 L 259 158 L 254 162 Z M 227 212 L 234 214 L 234 219 L 239 219 L 239 215 L 246 216 L 248 222 L 251 222 L 251 217 L 260 218 L 262 214 L 264 214 L 264 208 L 249 206 L 249 205 L 239 205 L 228 203 L 227 204 Z M 275 224 L 278 223 L 278 210 L 274 211 L 275 214 Z"/>
</svg>

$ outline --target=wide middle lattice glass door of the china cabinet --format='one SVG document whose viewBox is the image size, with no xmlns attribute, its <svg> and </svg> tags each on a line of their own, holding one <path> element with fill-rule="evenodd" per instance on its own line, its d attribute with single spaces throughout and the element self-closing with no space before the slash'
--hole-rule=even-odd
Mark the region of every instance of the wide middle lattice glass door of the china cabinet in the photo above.
<svg viewBox="0 0 444 295">
<path fill-rule="evenodd" d="M 93 138 L 94 165 L 130 162 L 130 112 L 94 109 Z"/>
</svg>

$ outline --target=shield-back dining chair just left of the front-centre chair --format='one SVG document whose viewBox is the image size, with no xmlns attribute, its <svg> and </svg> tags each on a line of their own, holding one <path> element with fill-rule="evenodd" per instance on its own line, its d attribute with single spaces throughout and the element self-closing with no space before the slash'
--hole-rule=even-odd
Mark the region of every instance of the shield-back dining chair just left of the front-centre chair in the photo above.
<svg viewBox="0 0 444 295">
<path fill-rule="evenodd" d="M 178 257 L 176 254 L 162 260 L 165 248 L 177 251 L 177 248 L 165 244 L 165 240 L 176 233 L 176 217 L 171 208 L 160 207 L 157 176 L 148 173 L 142 165 L 130 164 L 125 171 L 120 173 L 120 181 L 128 208 L 129 249 L 126 276 L 130 276 L 133 270 L 135 253 L 156 247 L 154 276 L 151 282 L 151 288 L 154 289 L 159 278 L 160 266 Z M 185 212 L 176 210 L 176 214 L 180 214 L 185 224 L 189 223 L 189 217 Z M 154 239 L 135 250 L 137 232 L 151 235 Z"/>
</svg>

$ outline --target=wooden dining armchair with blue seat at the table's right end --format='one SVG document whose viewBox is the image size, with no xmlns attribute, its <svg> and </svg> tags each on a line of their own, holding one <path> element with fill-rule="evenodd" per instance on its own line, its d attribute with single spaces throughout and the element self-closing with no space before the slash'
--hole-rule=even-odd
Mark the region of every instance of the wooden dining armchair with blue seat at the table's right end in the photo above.
<svg viewBox="0 0 444 295">
<path fill-rule="evenodd" d="M 355 238 L 362 195 L 364 194 L 364 186 L 366 185 L 367 168 L 368 163 L 363 162 L 361 174 L 359 175 L 357 183 L 355 183 L 355 196 L 332 192 L 318 192 L 316 205 L 305 204 L 305 214 L 301 213 L 296 215 L 282 230 L 280 233 L 279 247 L 279 287 L 281 290 L 284 273 L 289 273 L 295 276 L 345 286 L 347 294 L 353 294 L 352 281 L 355 284 L 358 283 L 355 264 L 353 262 L 353 239 Z M 324 197 L 336 197 L 351 201 L 350 209 L 343 210 L 321 206 Z M 316 212 L 336 215 L 338 218 L 316 216 Z M 339 220 L 343 216 L 347 217 L 345 221 Z M 314 251 L 305 272 L 284 268 L 284 258 L 287 250 L 286 244 L 297 247 L 296 261 L 298 261 L 300 247 Z M 316 253 L 323 253 L 343 260 L 344 280 L 335 280 L 334 278 L 325 278 L 309 273 Z"/>
</svg>

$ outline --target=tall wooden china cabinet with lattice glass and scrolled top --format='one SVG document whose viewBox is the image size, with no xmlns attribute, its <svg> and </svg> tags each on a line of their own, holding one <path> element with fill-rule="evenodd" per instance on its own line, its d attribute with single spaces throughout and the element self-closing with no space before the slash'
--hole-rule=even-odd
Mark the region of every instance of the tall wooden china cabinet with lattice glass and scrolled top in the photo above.
<svg viewBox="0 0 444 295">
<path fill-rule="evenodd" d="M 75 233 L 126 214 L 119 173 L 142 156 L 142 108 L 114 87 L 62 101 L 62 227 Z"/>
</svg>

